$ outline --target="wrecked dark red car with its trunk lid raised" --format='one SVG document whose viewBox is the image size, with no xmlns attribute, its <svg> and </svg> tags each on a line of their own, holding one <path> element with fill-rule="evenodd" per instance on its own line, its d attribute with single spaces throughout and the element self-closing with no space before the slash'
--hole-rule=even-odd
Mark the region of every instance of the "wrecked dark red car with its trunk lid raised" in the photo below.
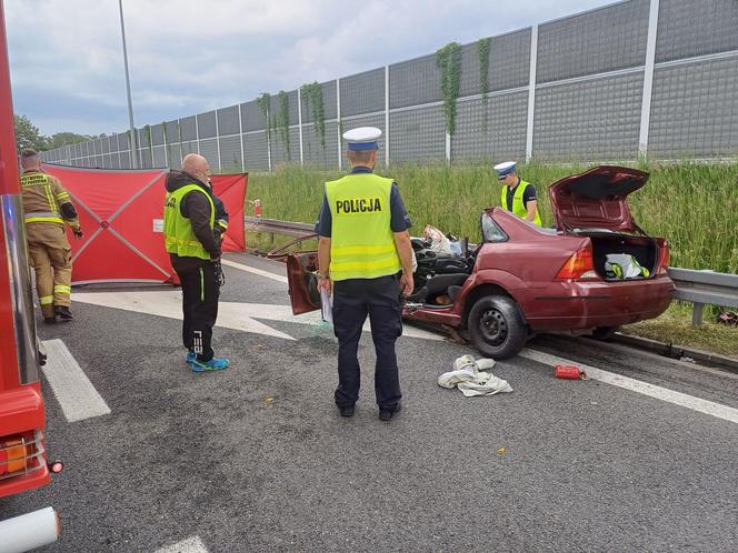
<svg viewBox="0 0 738 553">
<path fill-rule="evenodd" d="M 483 355 L 506 359 L 536 333 L 606 339 L 660 315 L 675 291 L 668 244 L 636 224 L 627 202 L 647 180 L 600 165 L 557 181 L 549 189 L 554 229 L 488 208 L 481 242 L 462 243 L 461 254 L 439 254 L 413 238 L 416 286 L 403 318 L 453 329 Z M 287 264 L 293 312 L 319 309 L 316 253 L 290 254 Z"/>
</svg>

